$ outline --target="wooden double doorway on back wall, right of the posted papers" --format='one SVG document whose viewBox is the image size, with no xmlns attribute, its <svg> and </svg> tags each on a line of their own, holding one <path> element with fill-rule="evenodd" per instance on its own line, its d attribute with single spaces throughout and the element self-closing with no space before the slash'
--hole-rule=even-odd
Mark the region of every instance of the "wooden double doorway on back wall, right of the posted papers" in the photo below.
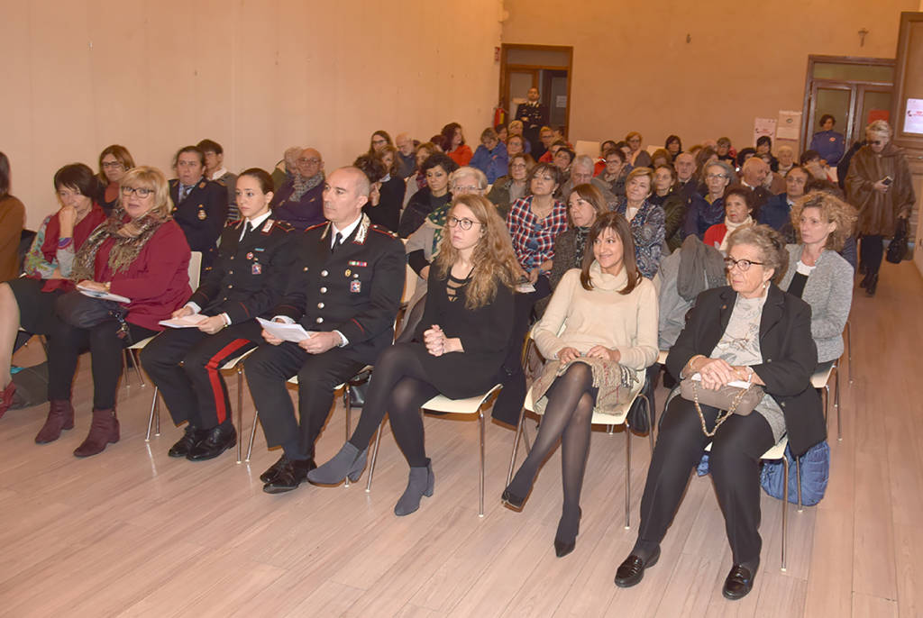
<svg viewBox="0 0 923 618">
<path fill-rule="evenodd" d="M 865 137 L 873 120 L 890 122 L 894 61 L 890 58 L 811 55 L 805 78 L 801 151 L 808 149 L 825 113 L 836 119 L 835 131 L 848 149 Z"/>
</svg>

